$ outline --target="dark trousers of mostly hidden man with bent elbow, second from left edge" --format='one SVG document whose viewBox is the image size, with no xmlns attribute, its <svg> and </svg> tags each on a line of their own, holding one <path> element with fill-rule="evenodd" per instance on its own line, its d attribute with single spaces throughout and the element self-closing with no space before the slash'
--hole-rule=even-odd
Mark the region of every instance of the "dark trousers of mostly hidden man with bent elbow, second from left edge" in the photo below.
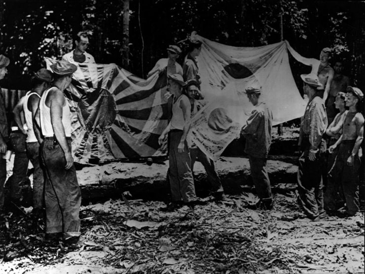
<svg viewBox="0 0 365 274">
<path fill-rule="evenodd" d="M 27 178 L 29 159 L 27 156 L 26 139 L 27 136 L 20 131 L 10 134 L 10 142 L 15 156 L 13 174 L 8 178 L 6 187 L 10 189 L 10 199 L 14 202 L 19 202 L 18 200 L 22 196 L 19 183 Z"/>
</svg>

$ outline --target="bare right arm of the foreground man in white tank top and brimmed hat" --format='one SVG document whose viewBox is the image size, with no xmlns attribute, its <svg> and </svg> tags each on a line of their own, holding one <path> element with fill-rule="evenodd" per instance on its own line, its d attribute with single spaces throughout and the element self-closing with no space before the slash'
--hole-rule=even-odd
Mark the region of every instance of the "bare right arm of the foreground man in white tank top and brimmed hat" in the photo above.
<svg viewBox="0 0 365 274">
<path fill-rule="evenodd" d="M 66 159 L 66 170 L 72 167 L 73 158 L 71 155 L 71 150 L 68 147 L 66 140 L 65 128 L 62 124 L 62 108 L 66 104 L 65 97 L 60 90 L 53 90 L 50 92 L 50 111 L 51 111 L 51 123 L 55 137 L 60 144 L 62 150 L 65 153 Z"/>
</svg>

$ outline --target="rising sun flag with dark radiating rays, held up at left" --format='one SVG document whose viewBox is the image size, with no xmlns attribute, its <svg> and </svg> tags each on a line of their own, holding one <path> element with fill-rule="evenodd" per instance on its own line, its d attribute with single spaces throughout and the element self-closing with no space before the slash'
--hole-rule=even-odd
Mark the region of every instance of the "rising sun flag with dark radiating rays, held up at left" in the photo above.
<svg viewBox="0 0 365 274">
<path fill-rule="evenodd" d="M 165 155 L 158 137 L 167 126 L 166 70 L 145 80 L 115 64 L 76 65 L 65 91 L 75 162 Z"/>
</svg>

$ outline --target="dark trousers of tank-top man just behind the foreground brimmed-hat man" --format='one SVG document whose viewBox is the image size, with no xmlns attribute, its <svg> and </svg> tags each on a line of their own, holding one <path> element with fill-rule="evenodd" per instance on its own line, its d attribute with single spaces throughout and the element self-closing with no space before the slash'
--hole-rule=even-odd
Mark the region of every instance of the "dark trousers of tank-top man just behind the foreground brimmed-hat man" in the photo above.
<svg viewBox="0 0 365 274">
<path fill-rule="evenodd" d="M 31 160 L 33 171 L 33 208 L 43 208 L 44 206 L 44 173 L 39 163 L 39 143 L 28 142 L 27 153 Z"/>
</svg>

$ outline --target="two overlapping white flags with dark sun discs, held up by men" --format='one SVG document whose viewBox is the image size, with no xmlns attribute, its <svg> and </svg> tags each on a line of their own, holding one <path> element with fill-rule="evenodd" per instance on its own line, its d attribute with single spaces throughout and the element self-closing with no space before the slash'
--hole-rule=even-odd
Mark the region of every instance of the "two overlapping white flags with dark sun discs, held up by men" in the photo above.
<svg viewBox="0 0 365 274">
<path fill-rule="evenodd" d="M 202 42 L 197 61 L 206 104 L 192 118 L 190 133 L 209 158 L 217 160 L 239 136 L 253 109 L 244 93 L 249 86 L 262 87 L 261 99 L 272 110 L 273 125 L 303 115 L 306 102 L 295 84 L 284 41 L 232 47 L 196 37 Z"/>
</svg>

